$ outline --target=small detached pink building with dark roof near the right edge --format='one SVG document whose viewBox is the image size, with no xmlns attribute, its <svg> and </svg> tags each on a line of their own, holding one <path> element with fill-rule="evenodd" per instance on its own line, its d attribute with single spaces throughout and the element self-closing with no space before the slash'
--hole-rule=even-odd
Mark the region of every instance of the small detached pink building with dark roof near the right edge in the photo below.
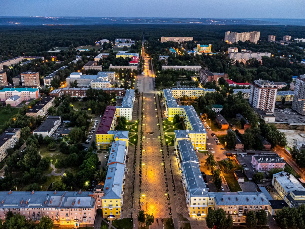
<svg viewBox="0 0 305 229">
<path fill-rule="evenodd" d="M 251 165 L 257 171 L 268 171 L 270 169 L 284 169 L 286 162 L 278 155 L 253 155 Z"/>
</svg>

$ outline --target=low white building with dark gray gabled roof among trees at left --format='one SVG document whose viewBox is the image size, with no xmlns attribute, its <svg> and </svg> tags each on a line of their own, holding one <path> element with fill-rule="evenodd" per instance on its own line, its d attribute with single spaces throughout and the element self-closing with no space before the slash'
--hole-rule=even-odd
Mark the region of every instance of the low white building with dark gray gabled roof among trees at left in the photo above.
<svg viewBox="0 0 305 229">
<path fill-rule="evenodd" d="M 41 134 L 43 137 L 51 137 L 60 124 L 60 116 L 48 116 L 48 118 L 38 127 L 38 129 L 34 130 L 33 134 Z"/>
</svg>

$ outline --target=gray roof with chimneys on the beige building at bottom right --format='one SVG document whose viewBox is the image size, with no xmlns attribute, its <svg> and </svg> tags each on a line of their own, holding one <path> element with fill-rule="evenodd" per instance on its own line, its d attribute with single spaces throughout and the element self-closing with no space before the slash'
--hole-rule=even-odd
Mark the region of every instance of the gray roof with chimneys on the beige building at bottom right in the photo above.
<svg viewBox="0 0 305 229">
<path fill-rule="evenodd" d="M 221 205 L 270 205 L 262 192 L 210 192 L 215 204 Z"/>
</svg>

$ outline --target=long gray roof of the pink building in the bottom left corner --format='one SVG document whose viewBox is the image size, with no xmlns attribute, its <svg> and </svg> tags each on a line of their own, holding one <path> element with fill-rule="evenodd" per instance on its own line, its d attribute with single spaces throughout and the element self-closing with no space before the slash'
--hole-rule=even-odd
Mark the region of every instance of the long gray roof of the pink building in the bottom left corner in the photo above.
<svg viewBox="0 0 305 229">
<path fill-rule="evenodd" d="M 92 192 L 6 191 L 0 192 L 1 208 L 93 208 Z"/>
</svg>

